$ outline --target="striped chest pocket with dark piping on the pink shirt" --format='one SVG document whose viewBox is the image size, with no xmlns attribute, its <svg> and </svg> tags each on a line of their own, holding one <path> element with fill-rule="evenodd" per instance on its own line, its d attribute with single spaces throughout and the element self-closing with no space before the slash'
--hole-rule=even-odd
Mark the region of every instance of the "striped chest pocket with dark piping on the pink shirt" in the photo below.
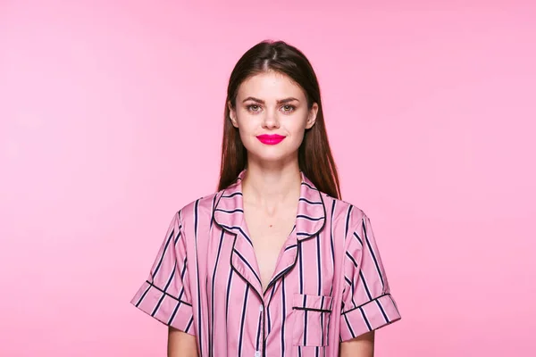
<svg viewBox="0 0 536 357">
<path fill-rule="evenodd" d="M 327 346 L 331 296 L 295 294 L 292 304 L 295 346 Z"/>
</svg>

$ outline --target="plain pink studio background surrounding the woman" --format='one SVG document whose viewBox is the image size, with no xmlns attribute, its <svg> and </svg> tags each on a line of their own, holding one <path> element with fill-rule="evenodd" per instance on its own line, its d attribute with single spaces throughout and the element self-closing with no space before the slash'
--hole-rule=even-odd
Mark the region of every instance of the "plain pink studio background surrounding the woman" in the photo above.
<svg viewBox="0 0 536 357">
<path fill-rule="evenodd" d="M 313 62 L 372 219 L 403 316 L 376 355 L 533 356 L 536 6 L 193 3 L 0 2 L 0 356 L 165 355 L 129 301 L 215 190 L 226 80 L 264 38 Z"/>
</svg>

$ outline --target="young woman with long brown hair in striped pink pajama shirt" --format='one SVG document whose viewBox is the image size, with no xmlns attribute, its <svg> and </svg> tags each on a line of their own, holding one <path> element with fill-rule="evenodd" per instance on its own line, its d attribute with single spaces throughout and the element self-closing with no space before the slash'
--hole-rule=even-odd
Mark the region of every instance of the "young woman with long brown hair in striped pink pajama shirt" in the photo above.
<svg viewBox="0 0 536 357">
<path fill-rule="evenodd" d="M 168 355 L 373 356 L 400 315 L 339 192 L 310 62 L 257 44 L 230 75 L 218 192 L 174 215 L 131 301 L 169 326 Z"/>
</svg>

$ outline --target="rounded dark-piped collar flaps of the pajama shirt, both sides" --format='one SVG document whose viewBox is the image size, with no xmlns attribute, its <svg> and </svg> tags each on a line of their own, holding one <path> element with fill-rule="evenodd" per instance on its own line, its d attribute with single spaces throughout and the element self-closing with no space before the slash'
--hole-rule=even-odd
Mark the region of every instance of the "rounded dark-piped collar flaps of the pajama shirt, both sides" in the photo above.
<svg viewBox="0 0 536 357">
<path fill-rule="evenodd" d="M 242 180 L 245 173 L 246 170 L 242 170 L 237 180 L 221 191 L 214 207 L 214 221 L 231 233 L 241 232 L 247 237 L 242 196 Z M 296 226 L 293 230 L 297 240 L 314 237 L 323 228 L 326 220 L 322 193 L 314 187 L 311 180 L 306 178 L 303 171 L 300 171 L 300 175 L 300 195 L 297 204 Z"/>
</svg>

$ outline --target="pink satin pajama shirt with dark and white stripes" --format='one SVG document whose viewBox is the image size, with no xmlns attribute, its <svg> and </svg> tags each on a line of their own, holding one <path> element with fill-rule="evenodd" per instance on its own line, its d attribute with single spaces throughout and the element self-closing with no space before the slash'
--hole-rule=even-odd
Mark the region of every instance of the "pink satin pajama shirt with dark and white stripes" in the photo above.
<svg viewBox="0 0 536 357">
<path fill-rule="evenodd" d="M 296 224 L 261 284 L 241 179 L 177 212 L 141 311 L 197 337 L 200 356 L 339 355 L 339 342 L 400 320 L 371 221 L 301 173 Z"/>
</svg>

